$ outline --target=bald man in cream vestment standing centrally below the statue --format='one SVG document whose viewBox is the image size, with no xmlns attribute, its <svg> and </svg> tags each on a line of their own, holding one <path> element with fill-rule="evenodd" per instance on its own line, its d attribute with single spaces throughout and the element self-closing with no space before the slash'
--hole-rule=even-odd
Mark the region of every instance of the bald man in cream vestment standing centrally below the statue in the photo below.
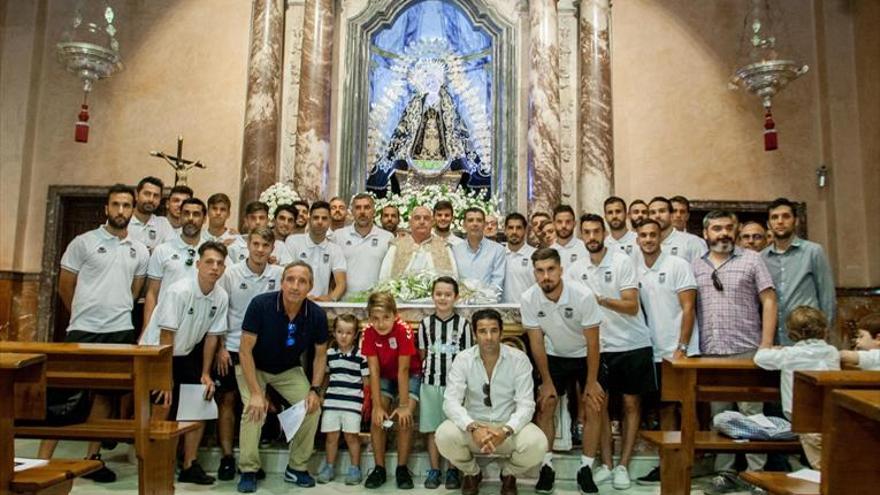
<svg viewBox="0 0 880 495">
<path fill-rule="evenodd" d="M 437 275 L 458 275 L 449 243 L 431 233 L 431 210 L 427 206 L 413 208 L 409 228 L 409 234 L 398 237 L 388 247 L 379 270 L 379 280 L 422 270 L 432 270 Z"/>
</svg>

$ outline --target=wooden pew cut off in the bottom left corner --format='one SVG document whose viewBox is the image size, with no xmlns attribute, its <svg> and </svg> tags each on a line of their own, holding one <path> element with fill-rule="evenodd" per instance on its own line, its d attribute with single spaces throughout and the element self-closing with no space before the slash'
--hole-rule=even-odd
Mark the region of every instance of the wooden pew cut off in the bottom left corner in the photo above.
<svg viewBox="0 0 880 495">
<path fill-rule="evenodd" d="M 74 478 L 101 468 L 100 461 L 53 459 L 16 473 L 13 422 L 45 416 L 46 356 L 0 353 L 0 390 L 13 392 L 11 401 L 0 401 L 0 494 L 65 495 Z"/>
</svg>

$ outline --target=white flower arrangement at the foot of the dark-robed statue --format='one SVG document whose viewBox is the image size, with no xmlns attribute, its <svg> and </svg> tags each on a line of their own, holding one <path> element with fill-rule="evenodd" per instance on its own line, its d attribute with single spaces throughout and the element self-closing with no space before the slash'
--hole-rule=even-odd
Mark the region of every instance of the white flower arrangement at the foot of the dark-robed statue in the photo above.
<svg viewBox="0 0 880 495">
<path fill-rule="evenodd" d="M 386 198 L 376 199 L 376 223 L 380 221 L 382 208 L 386 206 L 396 206 L 400 211 L 400 225 L 402 229 L 409 228 L 409 217 L 417 206 L 426 206 L 429 209 L 434 208 L 440 200 L 446 200 L 452 203 L 454 219 L 452 228 L 456 231 L 464 230 L 464 211 L 468 208 L 476 206 L 486 213 L 486 216 L 500 216 L 498 210 L 498 199 L 485 199 L 479 191 L 469 193 L 453 190 L 447 185 L 431 185 L 421 188 L 412 188 L 404 186 L 398 195 L 389 195 Z"/>
</svg>

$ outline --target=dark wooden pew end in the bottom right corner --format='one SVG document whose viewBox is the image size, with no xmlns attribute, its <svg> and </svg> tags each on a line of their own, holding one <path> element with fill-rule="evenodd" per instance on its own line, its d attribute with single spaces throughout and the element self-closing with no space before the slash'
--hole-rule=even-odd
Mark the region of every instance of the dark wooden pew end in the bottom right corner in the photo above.
<svg viewBox="0 0 880 495">
<path fill-rule="evenodd" d="M 822 438 L 822 493 L 877 493 L 880 390 L 836 390 L 831 403 Z"/>
</svg>

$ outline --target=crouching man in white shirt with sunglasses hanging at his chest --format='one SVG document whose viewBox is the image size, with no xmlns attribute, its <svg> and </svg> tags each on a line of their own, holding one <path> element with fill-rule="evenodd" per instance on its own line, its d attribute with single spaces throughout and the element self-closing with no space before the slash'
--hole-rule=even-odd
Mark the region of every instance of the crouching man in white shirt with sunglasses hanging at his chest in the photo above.
<svg viewBox="0 0 880 495">
<path fill-rule="evenodd" d="M 531 423 L 532 365 L 517 349 L 501 345 L 503 324 L 494 309 L 474 313 L 477 345 L 455 357 L 446 378 L 437 448 L 462 474 L 463 495 L 476 495 L 483 474 L 475 453 L 510 456 L 501 468 L 501 493 L 516 493 L 516 476 L 541 463 L 547 437 Z"/>
</svg>

